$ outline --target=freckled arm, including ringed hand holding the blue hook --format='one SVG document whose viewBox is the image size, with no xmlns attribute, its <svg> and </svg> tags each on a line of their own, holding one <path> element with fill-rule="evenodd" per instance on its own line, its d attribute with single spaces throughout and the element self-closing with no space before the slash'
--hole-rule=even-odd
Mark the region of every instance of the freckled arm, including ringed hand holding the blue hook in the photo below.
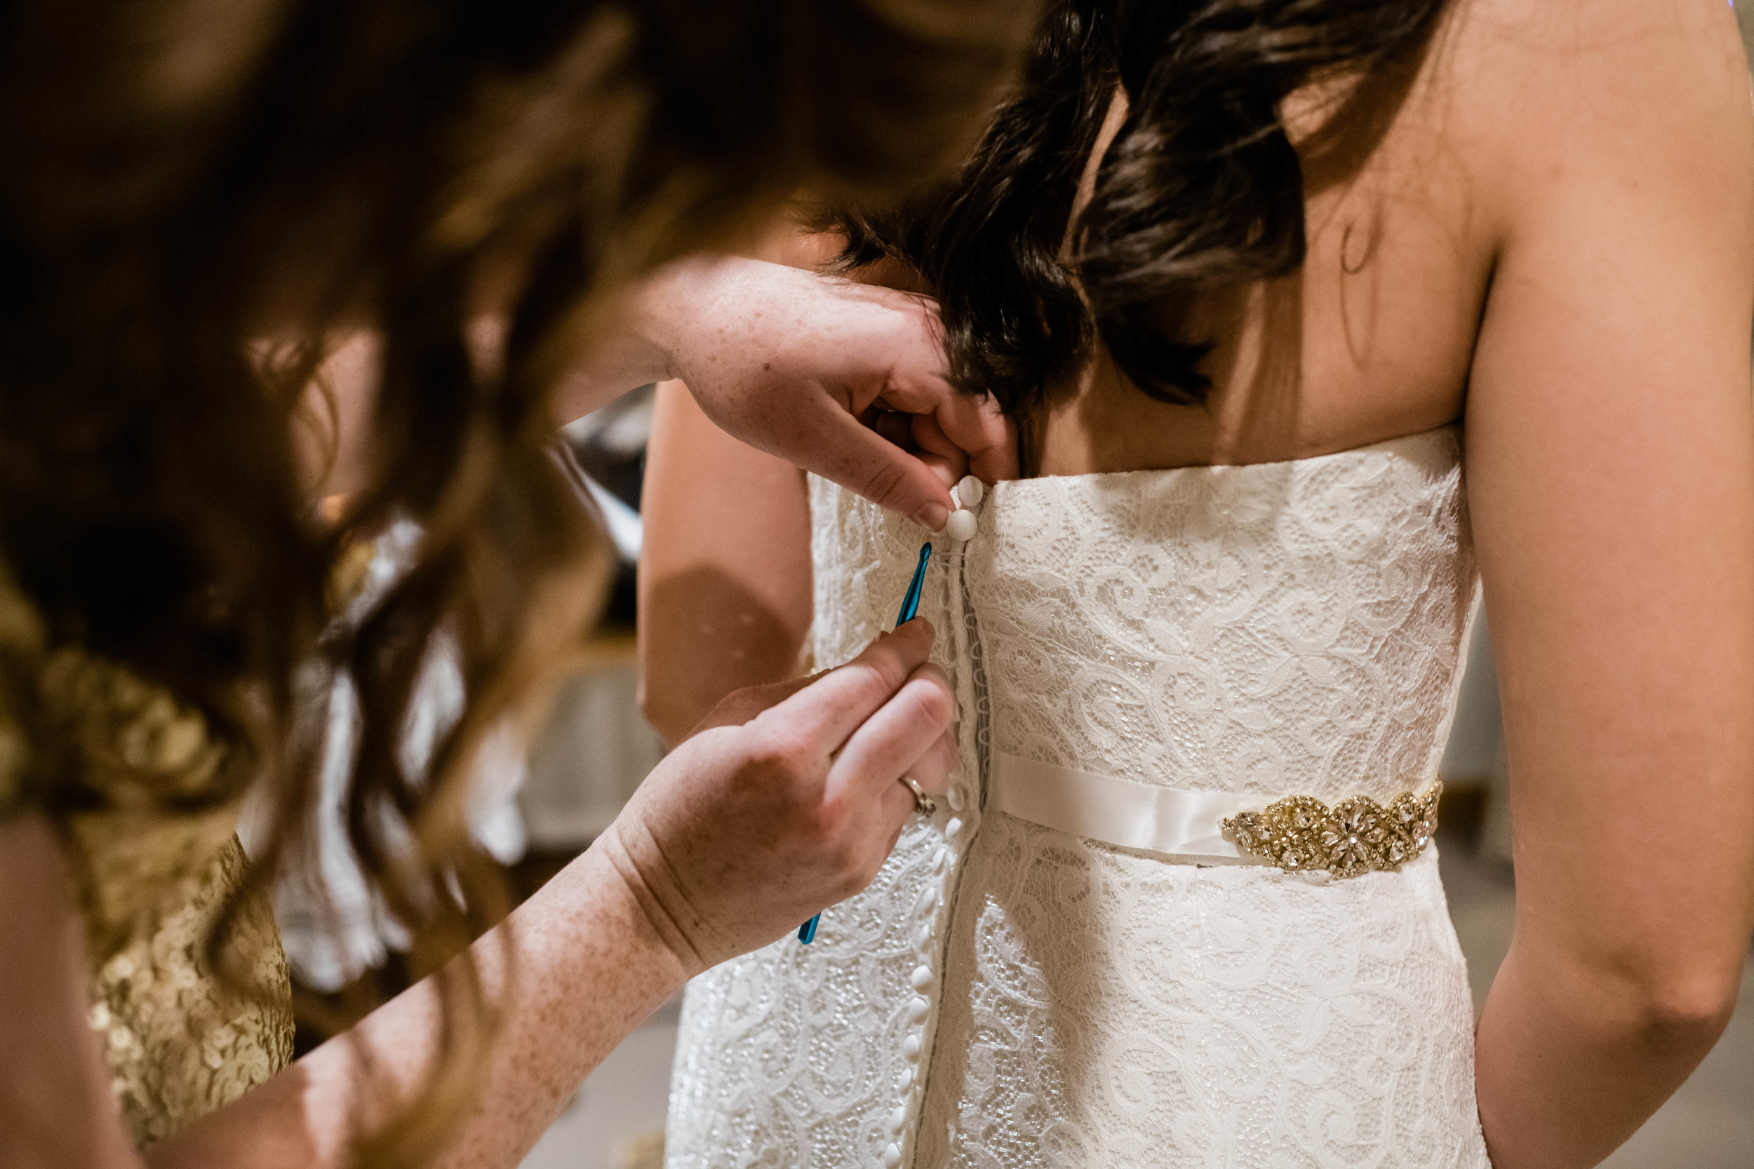
<svg viewBox="0 0 1754 1169">
<path fill-rule="evenodd" d="M 875 876 L 914 810 L 898 780 L 940 792 L 954 761 L 952 699 L 930 647 L 930 624 L 912 622 L 819 680 L 730 696 L 586 855 L 477 943 L 502 1024 L 438 1164 L 512 1169 L 584 1074 L 686 978 Z M 72 883 L 40 818 L 0 824 L 0 1160 L 140 1165 L 84 1022 Z M 437 1024 L 428 980 L 146 1162 L 353 1165 L 353 1125 L 379 1123 L 423 1080 Z M 354 1041 L 368 1045 L 374 1074 Z"/>
</svg>

